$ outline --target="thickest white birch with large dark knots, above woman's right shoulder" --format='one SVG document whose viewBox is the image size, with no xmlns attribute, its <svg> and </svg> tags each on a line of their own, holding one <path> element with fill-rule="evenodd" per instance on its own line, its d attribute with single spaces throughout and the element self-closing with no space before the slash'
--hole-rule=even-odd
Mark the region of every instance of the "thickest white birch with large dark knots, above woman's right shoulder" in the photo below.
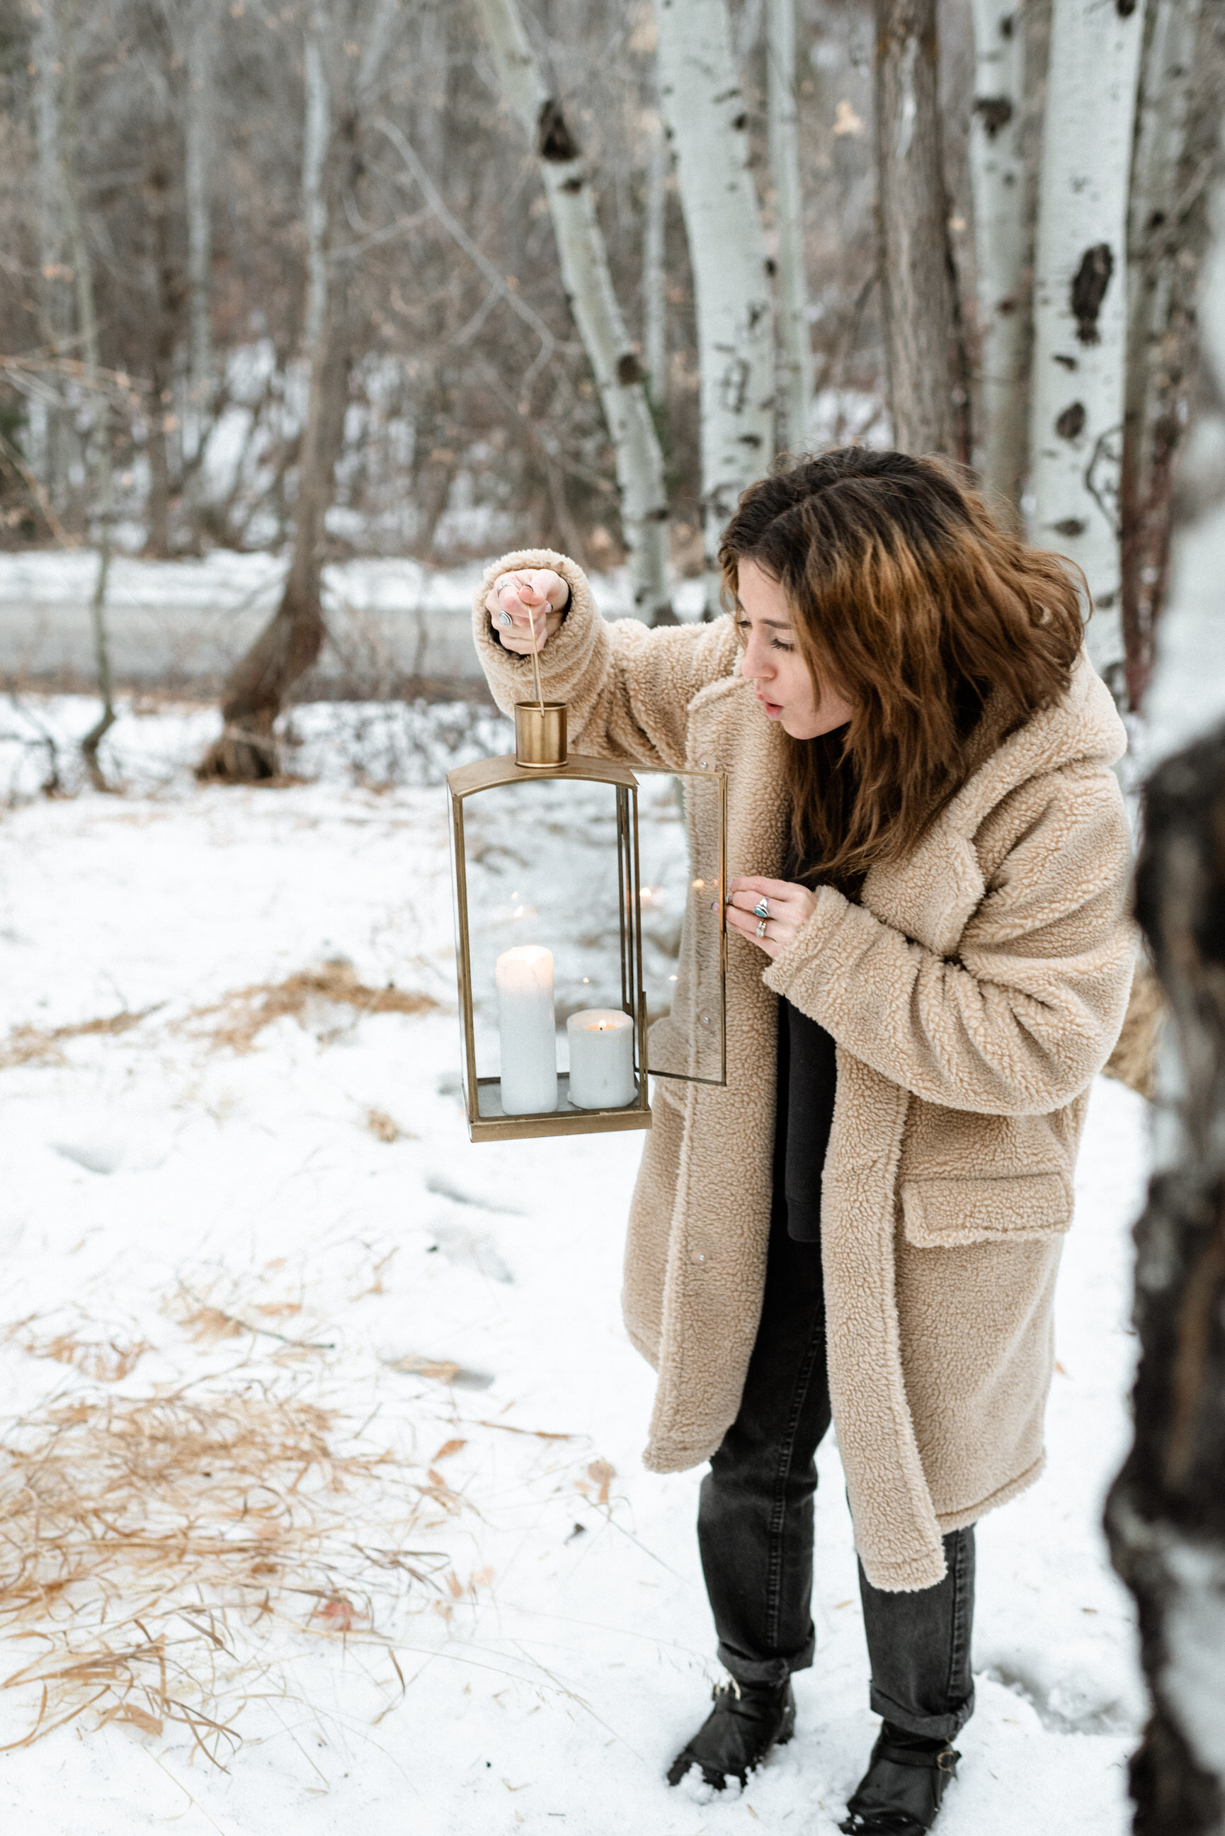
<svg viewBox="0 0 1225 1836">
<path fill-rule="evenodd" d="M 1118 468 L 1126 220 L 1144 13 L 1054 0 L 1041 138 L 1030 532 L 1076 562 L 1095 615 L 1089 654 L 1122 692 Z"/>
</svg>

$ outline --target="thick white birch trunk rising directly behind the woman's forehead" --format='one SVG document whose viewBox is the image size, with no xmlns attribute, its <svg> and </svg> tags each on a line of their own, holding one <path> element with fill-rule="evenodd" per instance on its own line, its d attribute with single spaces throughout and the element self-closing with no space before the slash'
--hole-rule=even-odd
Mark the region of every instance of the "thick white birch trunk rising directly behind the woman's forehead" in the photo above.
<svg viewBox="0 0 1225 1836">
<path fill-rule="evenodd" d="M 702 375 L 705 617 L 718 610 L 718 540 L 771 459 L 775 340 L 747 114 L 727 0 L 654 0 L 659 101 L 676 154 Z"/>
</svg>

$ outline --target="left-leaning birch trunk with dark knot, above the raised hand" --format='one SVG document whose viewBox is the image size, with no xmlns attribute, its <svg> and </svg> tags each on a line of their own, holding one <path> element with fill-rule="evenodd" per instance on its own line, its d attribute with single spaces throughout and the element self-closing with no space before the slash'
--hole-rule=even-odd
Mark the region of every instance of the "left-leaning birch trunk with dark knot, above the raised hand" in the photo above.
<svg viewBox="0 0 1225 1836">
<path fill-rule="evenodd" d="M 518 0 L 478 0 L 478 13 L 501 92 L 540 162 L 562 285 L 613 446 L 634 606 L 648 624 L 672 624 L 663 452 L 650 413 L 646 371 L 613 290 L 590 174 L 562 105 L 549 92 L 531 50 Z"/>
</svg>

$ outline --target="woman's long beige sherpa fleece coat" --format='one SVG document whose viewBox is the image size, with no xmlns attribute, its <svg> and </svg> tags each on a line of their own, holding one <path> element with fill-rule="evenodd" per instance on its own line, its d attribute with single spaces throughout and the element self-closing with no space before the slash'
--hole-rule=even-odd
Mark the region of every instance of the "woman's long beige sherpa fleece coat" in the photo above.
<svg viewBox="0 0 1225 1836">
<path fill-rule="evenodd" d="M 781 734 L 738 676 L 731 621 L 606 624 L 564 554 L 507 554 L 474 621 L 507 712 L 533 696 L 531 661 L 496 643 L 485 591 L 514 567 L 569 582 L 542 676 L 569 703 L 575 751 L 725 771 L 729 872 L 777 876 Z M 757 1335 L 775 997 L 837 1041 L 821 1188 L 830 1395 L 878 1588 L 933 1586 L 942 1533 L 1041 1469 L 1076 1144 L 1131 980 L 1128 826 L 1109 769 L 1124 747 L 1082 657 L 1056 707 L 984 742 L 920 845 L 869 872 L 860 905 L 825 887 L 773 962 L 729 938 L 727 1087 L 656 1085 L 623 1304 L 659 1373 L 645 1460 L 672 1472 L 707 1460 L 735 1421 Z M 692 1028 L 713 973 L 683 940 L 674 1034 Z"/>
</svg>

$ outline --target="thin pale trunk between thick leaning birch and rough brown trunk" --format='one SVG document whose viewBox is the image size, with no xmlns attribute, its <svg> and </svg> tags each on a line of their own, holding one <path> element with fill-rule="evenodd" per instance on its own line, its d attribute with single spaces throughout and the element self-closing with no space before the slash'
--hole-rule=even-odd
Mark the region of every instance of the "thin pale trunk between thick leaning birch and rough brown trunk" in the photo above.
<svg viewBox="0 0 1225 1836">
<path fill-rule="evenodd" d="M 803 452 L 808 439 L 814 365 L 808 334 L 804 268 L 804 200 L 799 184 L 799 112 L 795 106 L 795 0 L 768 0 L 766 108 L 770 176 L 779 248 L 779 446 Z"/>
</svg>

